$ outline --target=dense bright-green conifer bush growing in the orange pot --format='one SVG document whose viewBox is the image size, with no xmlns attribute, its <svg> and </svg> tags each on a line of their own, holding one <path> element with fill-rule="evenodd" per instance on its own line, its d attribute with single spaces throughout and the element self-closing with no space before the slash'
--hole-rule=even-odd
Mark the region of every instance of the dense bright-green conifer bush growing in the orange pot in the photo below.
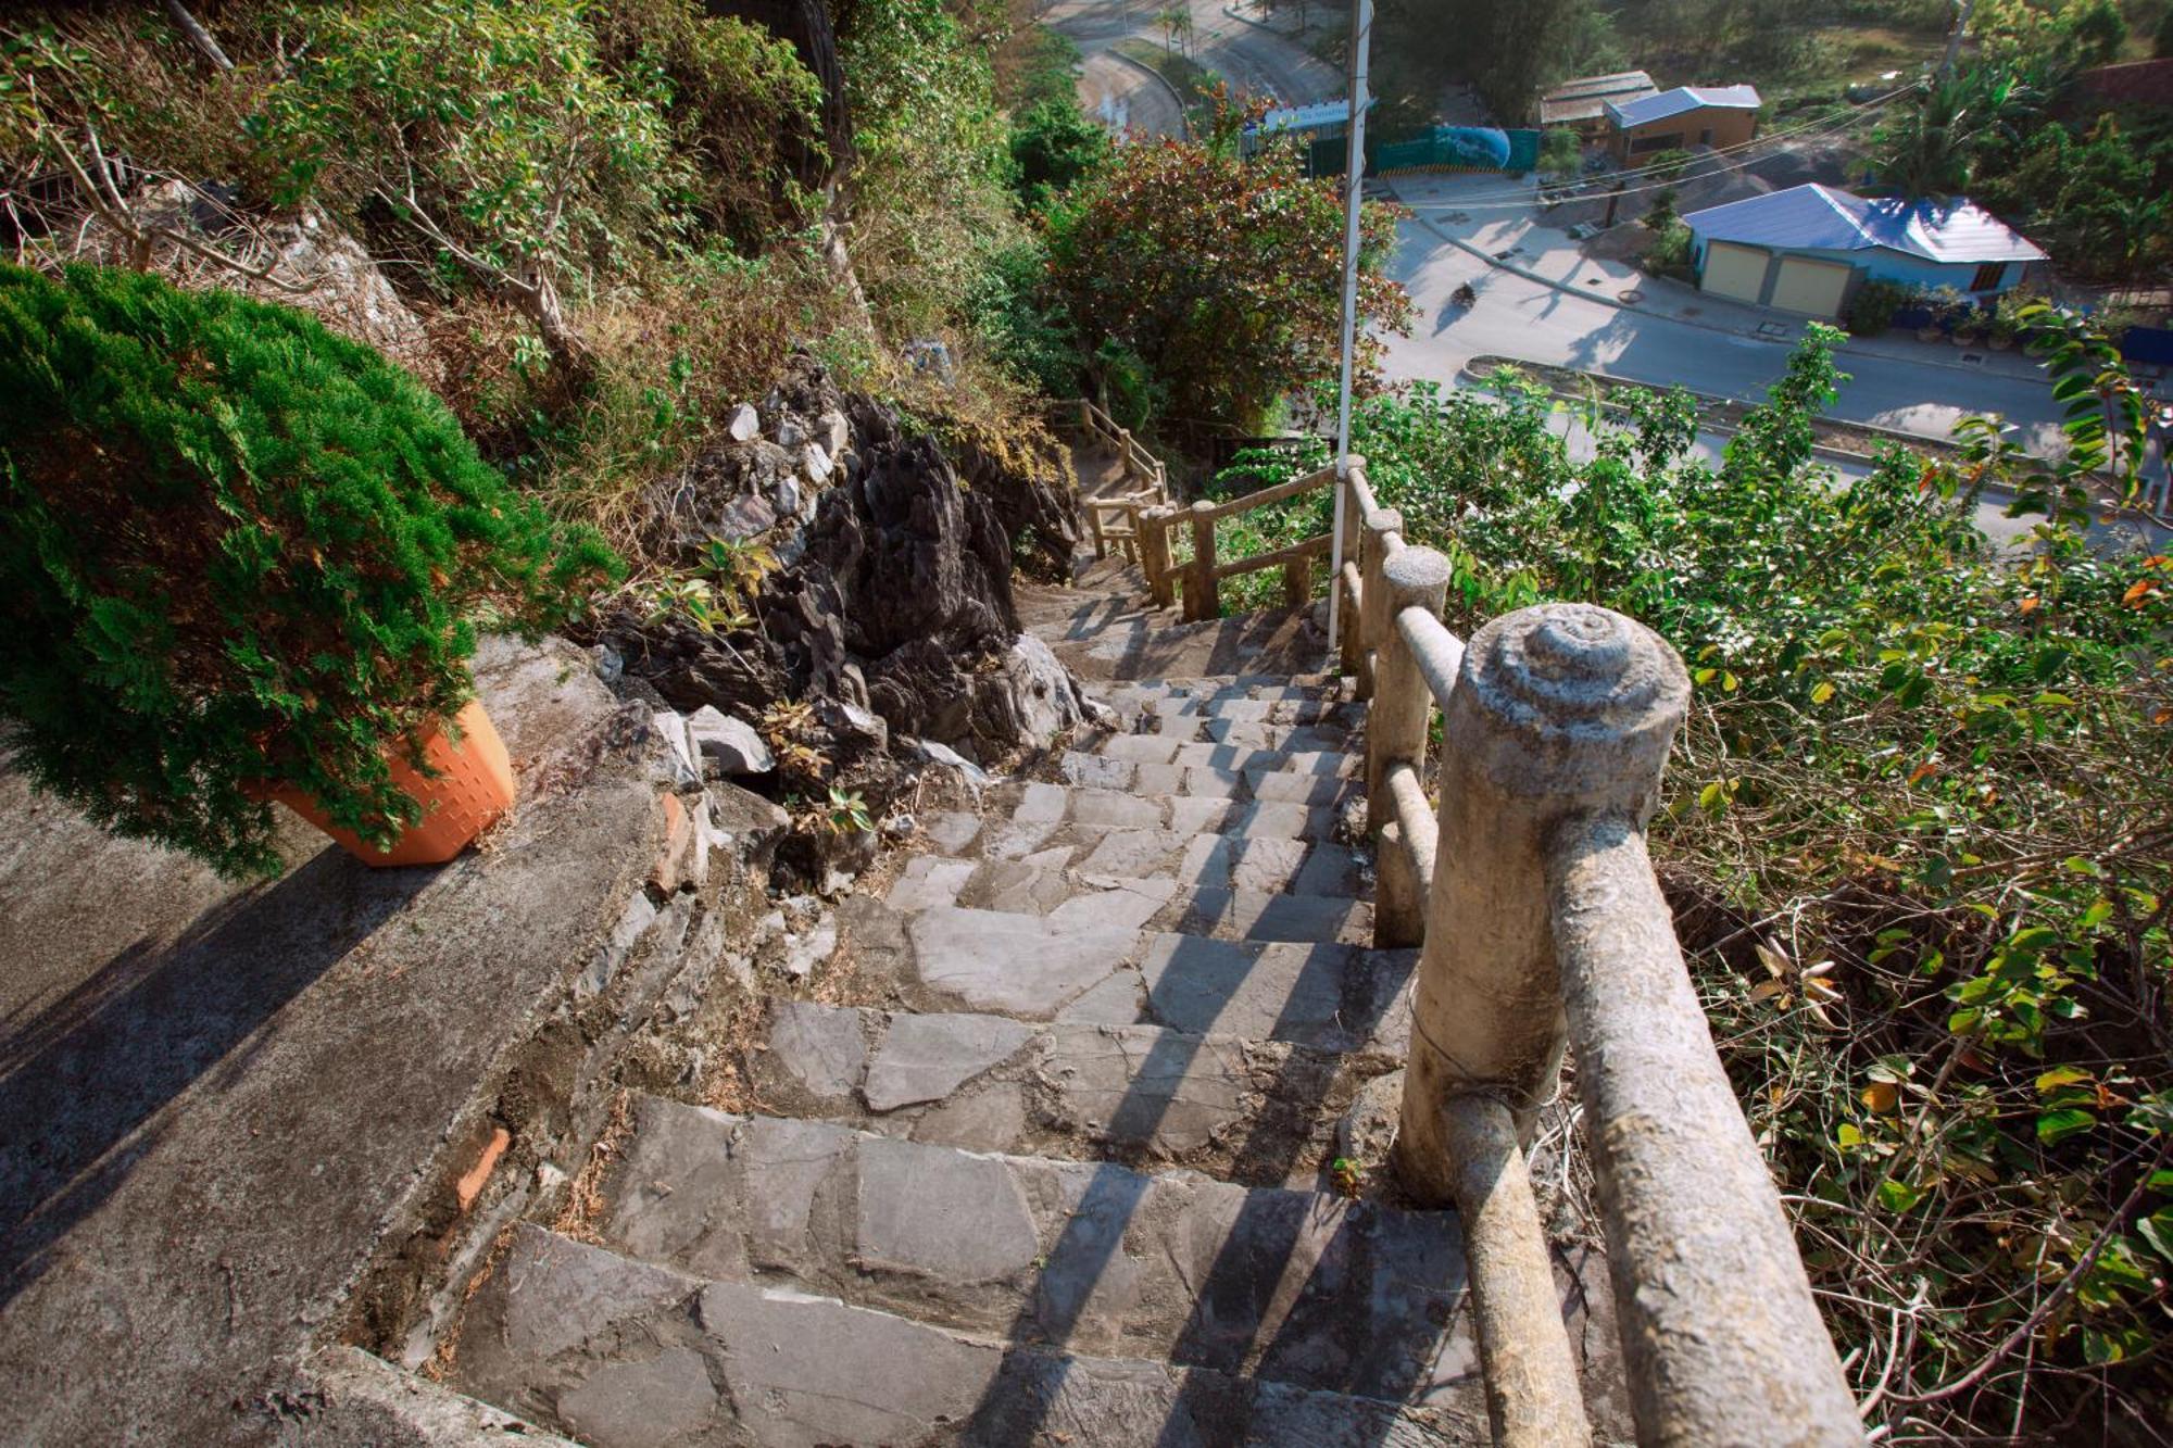
<svg viewBox="0 0 2173 1448">
<path fill-rule="evenodd" d="M 109 828 L 274 872 L 261 781 L 391 841 L 385 754 L 472 694 L 476 613 L 539 628 L 615 572 L 304 313 L 0 267 L 0 728 Z"/>
</svg>

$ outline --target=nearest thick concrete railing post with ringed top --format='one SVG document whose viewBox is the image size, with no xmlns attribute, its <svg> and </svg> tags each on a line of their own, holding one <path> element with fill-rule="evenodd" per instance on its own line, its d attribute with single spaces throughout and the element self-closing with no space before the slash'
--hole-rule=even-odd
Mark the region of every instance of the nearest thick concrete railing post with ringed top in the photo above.
<svg viewBox="0 0 2173 1448">
<path fill-rule="evenodd" d="M 1643 820 L 1688 698 L 1682 659 L 1606 609 L 1521 609 L 1471 637 L 1443 717 L 1441 863 L 1397 1135 L 1417 1194 L 1449 1198 L 1449 1096 L 1499 1096 L 1525 1135 L 1554 1096 L 1565 1020 L 1549 837 L 1571 815 Z"/>
</svg>

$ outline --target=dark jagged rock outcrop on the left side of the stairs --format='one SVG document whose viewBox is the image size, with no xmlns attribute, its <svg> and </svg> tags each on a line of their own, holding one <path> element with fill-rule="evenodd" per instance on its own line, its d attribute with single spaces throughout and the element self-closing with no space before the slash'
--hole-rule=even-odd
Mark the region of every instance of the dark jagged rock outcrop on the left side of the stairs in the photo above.
<svg viewBox="0 0 2173 1448">
<path fill-rule="evenodd" d="M 952 448 L 808 357 L 648 496 L 648 546 L 706 567 L 715 539 L 780 563 L 737 631 L 702 633 L 626 607 L 595 626 L 630 687 L 693 713 L 815 707 L 811 748 L 880 789 L 891 741 L 932 739 L 974 761 L 1047 744 L 1084 717 L 1078 685 L 1026 637 L 1010 572 L 1069 561 L 1078 511 L 1060 465 Z M 952 454 L 965 457 L 960 476 Z M 1013 465 L 1019 463 L 1019 465 Z"/>
</svg>

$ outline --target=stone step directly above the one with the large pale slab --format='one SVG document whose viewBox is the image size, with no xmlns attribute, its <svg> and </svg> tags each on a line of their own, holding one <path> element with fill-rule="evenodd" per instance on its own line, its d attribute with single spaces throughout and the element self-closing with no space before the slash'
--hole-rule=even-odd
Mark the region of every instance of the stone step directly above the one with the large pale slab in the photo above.
<svg viewBox="0 0 2173 1448">
<path fill-rule="evenodd" d="M 1084 878 L 1063 863 L 1026 859 L 945 859 L 917 854 L 906 861 L 884 900 L 895 911 L 965 904 L 980 911 L 1050 915 L 1071 900 L 1071 918 L 1136 920 L 1145 931 L 1206 935 L 1213 939 L 1373 941 L 1373 907 L 1336 896 L 1293 896 L 1263 889 L 1195 889 L 1176 881 Z"/>
</svg>

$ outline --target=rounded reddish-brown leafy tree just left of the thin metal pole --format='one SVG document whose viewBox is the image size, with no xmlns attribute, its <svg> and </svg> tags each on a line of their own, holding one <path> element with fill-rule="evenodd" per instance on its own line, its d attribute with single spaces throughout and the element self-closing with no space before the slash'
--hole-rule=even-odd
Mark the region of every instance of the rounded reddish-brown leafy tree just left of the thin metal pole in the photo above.
<svg viewBox="0 0 2173 1448">
<path fill-rule="evenodd" d="M 1343 313 L 1343 200 L 1295 150 L 1208 141 L 1123 148 L 1052 230 L 1052 270 L 1078 328 L 1136 352 L 1186 422 L 1254 426 L 1293 387 L 1334 376 Z M 1393 213 L 1365 209 L 1360 367 L 1369 335 L 1410 302 L 1380 274 Z"/>
</svg>

